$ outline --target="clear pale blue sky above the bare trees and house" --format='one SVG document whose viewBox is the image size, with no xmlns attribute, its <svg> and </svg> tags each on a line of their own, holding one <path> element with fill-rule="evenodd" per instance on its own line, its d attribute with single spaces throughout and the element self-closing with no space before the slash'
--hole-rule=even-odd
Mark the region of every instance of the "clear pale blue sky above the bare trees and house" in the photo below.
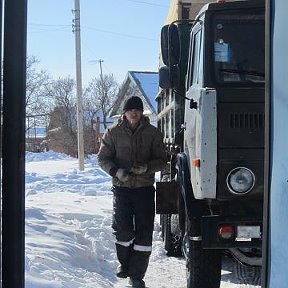
<svg viewBox="0 0 288 288">
<path fill-rule="evenodd" d="M 159 37 L 170 0 L 80 0 L 83 86 L 103 73 L 157 71 Z M 54 78 L 75 78 L 74 0 L 29 0 L 27 55 Z"/>
</svg>

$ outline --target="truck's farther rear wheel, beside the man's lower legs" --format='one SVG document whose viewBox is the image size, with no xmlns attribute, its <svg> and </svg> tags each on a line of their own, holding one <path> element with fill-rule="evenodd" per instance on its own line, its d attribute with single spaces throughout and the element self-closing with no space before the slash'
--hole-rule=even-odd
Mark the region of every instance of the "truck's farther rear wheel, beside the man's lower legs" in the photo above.
<svg viewBox="0 0 288 288">
<path fill-rule="evenodd" d="M 168 256 L 181 256 L 181 237 L 177 214 L 163 215 L 162 235 Z M 179 233 L 177 233 L 179 231 Z"/>
</svg>

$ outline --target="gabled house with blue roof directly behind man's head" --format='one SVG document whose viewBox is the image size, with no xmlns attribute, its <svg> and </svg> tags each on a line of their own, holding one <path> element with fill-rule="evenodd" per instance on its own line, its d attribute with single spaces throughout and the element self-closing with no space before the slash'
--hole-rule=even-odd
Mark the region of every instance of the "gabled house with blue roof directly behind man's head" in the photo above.
<svg viewBox="0 0 288 288">
<path fill-rule="evenodd" d="M 151 124 L 157 126 L 157 93 L 158 72 L 128 71 L 109 118 L 116 123 L 122 115 L 125 100 L 138 96 L 143 101 L 144 115 L 149 116 Z"/>
</svg>

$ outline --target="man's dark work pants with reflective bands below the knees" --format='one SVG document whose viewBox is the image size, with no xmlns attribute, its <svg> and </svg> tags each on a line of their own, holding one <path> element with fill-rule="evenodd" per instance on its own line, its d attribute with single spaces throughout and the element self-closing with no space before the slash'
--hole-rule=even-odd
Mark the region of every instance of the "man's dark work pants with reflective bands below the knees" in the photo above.
<svg viewBox="0 0 288 288">
<path fill-rule="evenodd" d="M 113 187 L 113 224 L 117 257 L 127 275 L 145 276 L 152 250 L 155 189 Z"/>
</svg>

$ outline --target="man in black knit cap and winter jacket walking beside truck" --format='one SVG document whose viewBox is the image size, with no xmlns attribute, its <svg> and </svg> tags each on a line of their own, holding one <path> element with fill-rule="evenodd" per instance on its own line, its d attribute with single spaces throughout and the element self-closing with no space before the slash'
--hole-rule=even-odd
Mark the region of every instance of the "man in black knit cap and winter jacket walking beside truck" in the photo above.
<svg viewBox="0 0 288 288">
<path fill-rule="evenodd" d="M 155 172 L 167 159 L 162 133 L 143 115 L 141 98 L 126 100 L 121 119 L 103 135 L 98 162 L 112 176 L 117 276 L 144 288 L 152 251 Z"/>
</svg>

